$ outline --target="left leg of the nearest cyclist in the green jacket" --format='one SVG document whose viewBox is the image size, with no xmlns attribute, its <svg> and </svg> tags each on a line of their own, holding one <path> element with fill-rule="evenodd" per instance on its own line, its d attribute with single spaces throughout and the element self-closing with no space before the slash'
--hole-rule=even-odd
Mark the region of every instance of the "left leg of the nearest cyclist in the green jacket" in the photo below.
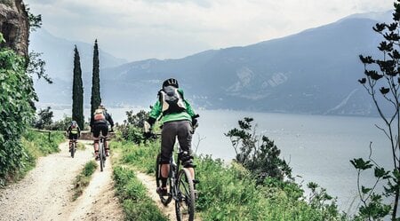
<svg viewBox="0 0 400 221">
<path fill-rule="evenodd" d="M 170 161 L 173 145 L 176 139 L 176 122 L 165 122 L 161 131 L 161 182 L 166 186 L 168 174 L 170 173 Z"/>
</svg>

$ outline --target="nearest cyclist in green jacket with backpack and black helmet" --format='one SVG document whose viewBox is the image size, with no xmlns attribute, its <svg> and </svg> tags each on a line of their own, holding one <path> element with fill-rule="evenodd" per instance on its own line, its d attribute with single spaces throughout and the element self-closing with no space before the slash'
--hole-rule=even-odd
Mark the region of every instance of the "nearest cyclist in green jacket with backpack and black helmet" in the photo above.
<svg viewBox="0 0 400 221">
<path fill-rule="evenodd" d="M 191 141 L 193 126 L 196 125 L 196 114 L 186 99 L 183 91 L 179 88 L 178 81 L 170 78 L 165 80 L 162 89 L 158 91 L 158 100 L 152 107 L 148 120 L 145 122 L 145 136 L 150 134 L 150 130 L 156 119 L 162 115 L 161 122 L 163 130 L 161 132 L 161 183 L 156 192 L 167 194 L 167 178 L 170 171 L 170 160 L 172 157 L 173 146 L 178 137 L 180 148 L 184 151 L 182 155 L 182 166 L 188 168 L 193 179 L 195 170 L 193 156 L 191 153 Z"/>
</svg>

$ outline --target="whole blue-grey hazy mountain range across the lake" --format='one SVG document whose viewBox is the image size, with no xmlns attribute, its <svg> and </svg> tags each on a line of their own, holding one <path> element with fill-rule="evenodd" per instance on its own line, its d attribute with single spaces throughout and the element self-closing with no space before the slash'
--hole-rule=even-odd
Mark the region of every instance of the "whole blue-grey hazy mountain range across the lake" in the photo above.
<svg viewBox="0 0 400 221">
<path fill-rule="evenodd" d="M 183 59 L 126 63 L 100 51 L 101 97 L 109 106 L 148 106 L 156 101 L 164 79 L 175 77 L 186 99 L 196 108 L 376 114 L 371 98 L 357 82 L 364 75 L 358 56 L 380 56 L 377 45 L 382 38 L 372 27 L 390 19 L 391 12 L 356 14 L 292 36 L 202 51 Z M 52 87 L 60 90 L 41 93 L 42 89 L 51 91 L 49 86 L 36 86 L 41 101 L 71 102 L 72 52 L 76 44 L 83 51 L 85 103 L 90 104 L 92 45 L 68 42 L 45 31 L 43 35 L 50 39 L 42 39 L 41 35 L 31 40 L 31 48 L 48 56 L 44 57 L 48 68 L 54 69 L 49 75 L 54 85 L 58 84 Z"/>
</svg>

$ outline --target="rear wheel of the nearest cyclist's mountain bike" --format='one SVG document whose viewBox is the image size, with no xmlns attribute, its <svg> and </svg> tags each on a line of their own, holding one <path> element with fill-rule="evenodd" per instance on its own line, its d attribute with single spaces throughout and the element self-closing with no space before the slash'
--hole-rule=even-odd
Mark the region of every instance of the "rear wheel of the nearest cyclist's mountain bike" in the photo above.
<svg viewBox="0 0 400 221">
<path fill-rule="evenodd" d="M 178 174 L 177 199 L 175 212 L 178 221 L 195 218 L 195 186 L 188 169 L 183 168 Z"/>
</svg>

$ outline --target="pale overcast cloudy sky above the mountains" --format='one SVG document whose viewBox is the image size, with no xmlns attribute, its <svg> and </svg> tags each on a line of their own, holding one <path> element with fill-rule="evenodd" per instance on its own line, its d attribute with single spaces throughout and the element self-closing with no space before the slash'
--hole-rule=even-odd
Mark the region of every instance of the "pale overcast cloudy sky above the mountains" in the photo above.
<svg viewBox="0 0 400 221">
<path fill-rule="evenodd" d="M 54 36 L 93 43 L 129 61 L 289 36 L 350 14 L 393 9 L 391 0 L 24 0 Z"/>
</svg>

